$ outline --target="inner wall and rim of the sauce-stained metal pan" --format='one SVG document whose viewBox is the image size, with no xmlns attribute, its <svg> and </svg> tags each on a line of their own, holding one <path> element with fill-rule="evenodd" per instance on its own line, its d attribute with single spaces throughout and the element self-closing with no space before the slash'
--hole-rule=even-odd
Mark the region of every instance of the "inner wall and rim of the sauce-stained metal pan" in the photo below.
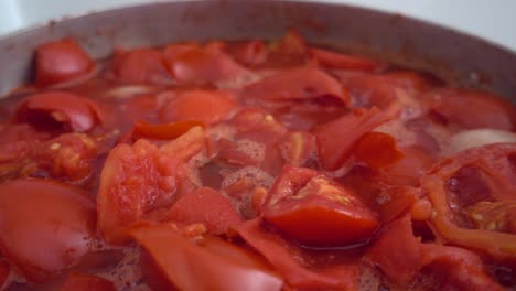
<svg viewBox="0 0 516 291">
<path fill-rule="evenodd" d="M 0 40 L 0 95 L 30 80 L 33 50 L 73 36 L 95 57 L 116 46 L 185 40 L 277 39 L 289 28 L 310 42 L 379 55 L 461 85 L 516 97 L 516 55 L 413 19 L 342 4 L 295 1 L 160 2 L 92 13 Z"/>
</svg>

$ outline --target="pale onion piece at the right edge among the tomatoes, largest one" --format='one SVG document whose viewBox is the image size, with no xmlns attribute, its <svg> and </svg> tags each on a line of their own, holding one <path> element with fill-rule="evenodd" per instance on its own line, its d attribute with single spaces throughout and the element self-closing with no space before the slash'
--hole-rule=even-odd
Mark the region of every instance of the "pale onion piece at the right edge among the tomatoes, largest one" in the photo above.
<svg viewBox="0 0 516 291">
<path fill-rule="evenodd" d="M 463 150 L 498 142 L 516 142 L 516 133 L 488 128 L 464 130 L 450 138 L 443 154 L 452 155 Z"/>
</svg>

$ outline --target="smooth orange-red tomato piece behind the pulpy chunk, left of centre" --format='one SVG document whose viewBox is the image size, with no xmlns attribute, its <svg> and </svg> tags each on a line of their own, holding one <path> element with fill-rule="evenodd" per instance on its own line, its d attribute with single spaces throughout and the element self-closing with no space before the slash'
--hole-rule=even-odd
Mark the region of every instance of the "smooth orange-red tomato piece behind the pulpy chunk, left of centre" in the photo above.
<svg viewBox="0 0 516 291">
<path fill-rule="evenodd" d="M 160 111 L 164 122 L 201 121 L 211 125 L 226 118 L 237 103 L 232 94 L 215 90 L 189 90 L 180 94 Z"/>
</svg>

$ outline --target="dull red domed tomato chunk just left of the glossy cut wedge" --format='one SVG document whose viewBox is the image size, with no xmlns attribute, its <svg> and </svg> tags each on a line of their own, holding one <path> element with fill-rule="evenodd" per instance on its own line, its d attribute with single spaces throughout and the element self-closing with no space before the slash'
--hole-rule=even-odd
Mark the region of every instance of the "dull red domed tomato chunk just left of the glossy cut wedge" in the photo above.
<svg viewBox="0 0 516 291">
<path fill-rule="evenodd" d="M 241 223 L 232 202 L 209 187 L 202 187 L 181 197 L 172 205 L 166 219 L 183 224 L 204 224 L 214 235 L 225 234 Z"/>
</svg>

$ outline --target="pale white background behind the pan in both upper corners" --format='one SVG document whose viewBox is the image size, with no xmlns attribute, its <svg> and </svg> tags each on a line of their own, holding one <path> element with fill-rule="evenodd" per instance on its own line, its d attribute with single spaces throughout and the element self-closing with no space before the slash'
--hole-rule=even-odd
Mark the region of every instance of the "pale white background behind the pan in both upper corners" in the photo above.
<svg viewBox="0 0 516 291">
<path fill-rule="evenodd" d="M 351 3 L 416 17 L 476 34 L 516 52 L 515 0 L 319 1 Z M 72 17 L 106 8 L 144 2 L 155 2 L 155 0 L 0 0 L 0 35 L 65 15 Z"/>
</svg>

